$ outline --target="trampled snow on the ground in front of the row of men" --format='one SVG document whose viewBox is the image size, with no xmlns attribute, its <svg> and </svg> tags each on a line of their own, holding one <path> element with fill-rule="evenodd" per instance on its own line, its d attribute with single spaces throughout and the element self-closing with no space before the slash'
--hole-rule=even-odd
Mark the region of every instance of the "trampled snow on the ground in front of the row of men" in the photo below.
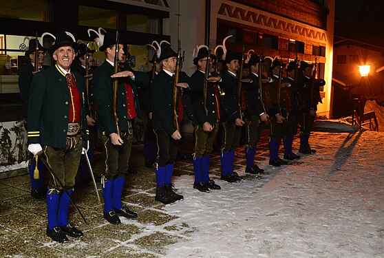
<svg viewBox="0 0 384 258">
<path fill-rule="evenodd" d="M 383 136 L 317 133 L 316 154 L 279 168 L 264 160 L 263 180 L 217 180 L 211 193 L 174 178 L 185 200 L 165 209 L 195 231 L 166 257 L 383 257 Z"/>
</svg>

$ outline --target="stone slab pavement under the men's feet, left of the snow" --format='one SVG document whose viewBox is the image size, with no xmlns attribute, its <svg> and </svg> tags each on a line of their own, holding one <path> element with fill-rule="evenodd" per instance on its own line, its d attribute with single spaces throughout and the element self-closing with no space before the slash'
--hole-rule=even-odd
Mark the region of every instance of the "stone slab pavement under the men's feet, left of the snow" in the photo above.
<svg viewBox="0 0 384 258">
<path fill-rule="evenodd" d="M 259 142 L 256 160 L 268 160 L 268 131 L 264 130 Z M 295 139 L 294 148 L 298 140 Z M 245 164 L 244 148 L 235 157 L 234 169 Z M 180 153 L 186 156 L 175 164 L 173 180 L 180 175 L 193 175 L 191 154 L 193 140 L 184 137 Z M 1 257 L 159 257 L 169 244 L 187 237 L 193 229 L 178 217 L 168 215 L 164 205 L 154 200 L 156 177 L 153 169 L 144 166 L 142 145 L 134 146 L 131 166 L 137 173 L 129 173 L 125 182 L 123 201 L 138 213 L 137 219 L 122 218 L 122 224 L 112 225 L 103 219 L 103 200 L 99 204 L 92 185 L 77 186 L 74 200 L 88 224 L 70 208 L 70 221 L 83 230 L 82 239 L 70 238 L 67 244 L 57 244 L 45 235 L 47 223 L 44 201 L 30 197 L 28 175 L 0 180 L 0 256 Z M 95 155 L 94 172 L 100 173 L 103 155 Z M 240 174 L 244 174 L 244 171 Z M 211 178 L 220 184 L 220 155 L 213 153 Z M 251 175 L 246 175 L 246 180 Z M 102 197 L 100 183 L 98 192 Z M 192 187 L 193 182 L 191 182 Z M 177 186 L 177 183 L 176 183 Z M 225 190 L 222 190 L 225 191 Z"/>
</svg>

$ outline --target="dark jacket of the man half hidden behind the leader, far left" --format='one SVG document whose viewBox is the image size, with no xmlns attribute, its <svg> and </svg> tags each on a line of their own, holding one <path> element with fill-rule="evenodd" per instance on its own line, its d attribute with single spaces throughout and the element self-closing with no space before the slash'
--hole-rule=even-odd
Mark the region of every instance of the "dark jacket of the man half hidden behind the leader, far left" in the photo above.
<svg viewBox="0 0 384 258">
<path fill-rule="evenodd" d="M 48 65 L 43 65 L 43 69 L 47 68 L 49 68 Z M 32 63 L 24 65 L 19 72 L 19 90 L 21 100 L 23 100 L 22 116 L 24 118 L 26 118 L 28 115 L 28 100 L 30 98 L 30 87 L 34 76 L 32 72 L 34 72 L 34 66 L 32 65 Z"/>
</svg>

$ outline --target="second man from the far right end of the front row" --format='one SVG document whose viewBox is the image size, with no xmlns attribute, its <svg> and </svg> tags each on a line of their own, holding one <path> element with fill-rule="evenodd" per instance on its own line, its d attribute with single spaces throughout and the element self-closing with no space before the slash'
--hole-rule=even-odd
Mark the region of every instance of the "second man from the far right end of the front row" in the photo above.
<svg viewBox="0 0 384 258">
<path fill-rule="evenodd" d="M 284 159 L 286 160 L 297 160 L 300 158 L 299 155 L 296 155 L 292 151 L 293 138 L 297 133 L 297 125 L 299 123 L 299 119 L 301 118 L 301 94 L 297 83 L 297 69 L 298 67 L 296 61 L 290 61 L 285 69 L 287 76 L 283 78 L 284 82 L 290 84 L 285 88 L 284 99 L 286 101 L 283 103 L 287 113 L 286 133 L 283 140 Z"/>
</svg>

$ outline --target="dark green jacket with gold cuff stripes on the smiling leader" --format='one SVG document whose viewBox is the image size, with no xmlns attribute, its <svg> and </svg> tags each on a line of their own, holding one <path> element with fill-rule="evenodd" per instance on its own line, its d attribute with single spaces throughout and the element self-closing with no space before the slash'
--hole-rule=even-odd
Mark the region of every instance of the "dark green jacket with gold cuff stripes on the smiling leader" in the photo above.
<svg viewBox="0 0 384 258">
<path fill-rule="evenodd" d="M 87 146 L 87 120 L 84 106 L 84 78 L 71 71 L 81 100 L 83 146 Z M 65 148 L 71 96 L 67 80 L 58 67 L 34 75 L 28 105 L 28 143 Z"/>
</svg>

